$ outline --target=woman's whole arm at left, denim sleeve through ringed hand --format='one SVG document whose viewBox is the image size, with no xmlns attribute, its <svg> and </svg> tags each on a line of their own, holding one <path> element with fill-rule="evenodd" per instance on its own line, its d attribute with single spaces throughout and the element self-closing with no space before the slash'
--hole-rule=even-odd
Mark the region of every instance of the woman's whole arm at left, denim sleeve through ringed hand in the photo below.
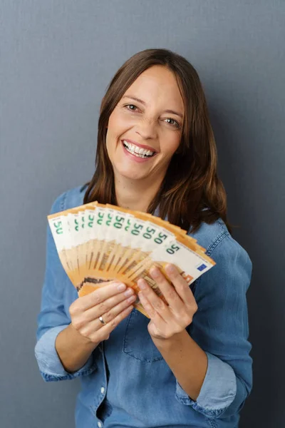
<svg viewBox="0 0 285 428">
<path fill-rule="evenodd" d="M 51 213 L 64 210 L 66 195 L 61 195 Z M 66 287 L 74 291 L 74 301 L 65 302 Z M 41 312 L 38 315 L 36 360 L 43 379 L 73 379 L 95 370 L 93 350 L 108 339 L 110 332 L 133 310 L 135 293 L 125 284 L 110 282 L 105 287 L 77 298 L 58 258 L 56 245 L 47 230 L 46 275 Z M 65 308 L 70 305 L 68 314 Z M 99 317 L 104 315 L 105 325 Z"/>
</svg>

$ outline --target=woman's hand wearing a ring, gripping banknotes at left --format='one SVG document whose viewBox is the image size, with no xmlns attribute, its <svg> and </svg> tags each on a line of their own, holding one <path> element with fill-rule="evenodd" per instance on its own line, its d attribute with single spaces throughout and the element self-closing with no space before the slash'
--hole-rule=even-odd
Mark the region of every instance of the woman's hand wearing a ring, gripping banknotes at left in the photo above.
<svg viewBox="0 0 285 428">
<path fill-rule="evenodd" d="M 133 310 L 137 298 L 134 290 L 122 282 L 102 285 L 90 294 L 78 297 L 69 307 L 72 327 L 94 344 L 109 338 L 110 332 Z"/>
</svg>

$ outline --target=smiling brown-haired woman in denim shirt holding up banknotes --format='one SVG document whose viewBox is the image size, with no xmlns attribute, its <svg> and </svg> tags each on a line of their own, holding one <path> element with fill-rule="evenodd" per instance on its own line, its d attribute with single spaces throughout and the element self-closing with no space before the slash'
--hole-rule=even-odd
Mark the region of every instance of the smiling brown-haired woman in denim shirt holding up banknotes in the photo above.
<svg viewBox="0 0 285 428">
<path fill-rule="evenodd" d="M 252 264 L 232 238 L 216 147 L 199 77 L 185 58 L 148 49 L 118 70 L 98 124 L 88 187 L 59 196 L 51 213 L 98 200 L 188 230 L 217 263 L 193 286 L 167 267 L 79 297 L 48 230 L 36 358 L 46 381 L 81 377 L 76 427 L 237 427 L 252 387 L 246 291 Z"/>
</svg>

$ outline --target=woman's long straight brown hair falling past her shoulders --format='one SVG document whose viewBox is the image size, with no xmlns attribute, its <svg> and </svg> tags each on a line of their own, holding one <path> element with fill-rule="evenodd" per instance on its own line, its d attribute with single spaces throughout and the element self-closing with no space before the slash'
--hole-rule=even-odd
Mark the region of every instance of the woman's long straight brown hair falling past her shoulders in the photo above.
<svg viewBox="0 0 285 428">
<path fill-rule="evenodd" d="M 103 97 L 98 122 L 98 145 L 95 173 L 88 184 L 84 203 L 118 205 L 115 197 L 113 166 L 106 149 L 106 133 L 110 114 L 123 94 L 140 74 L 151 66 L 167 67 L 175 74 L 183 99 L 185 119 L 180 147 L 172 156 L 164 181 L 147 213 L 159 215 L 170 223 L 195 232 L 204 221 L 217 218 L 227 222 L 227 198 L 217 177 L 217 148 L 202 84 L 195 68 L 182 56 L 167 49 L 146 49 L 138 52 L 119 68 Z M 230 228 L 229 228 L 230 229 Z"/>
</svg>

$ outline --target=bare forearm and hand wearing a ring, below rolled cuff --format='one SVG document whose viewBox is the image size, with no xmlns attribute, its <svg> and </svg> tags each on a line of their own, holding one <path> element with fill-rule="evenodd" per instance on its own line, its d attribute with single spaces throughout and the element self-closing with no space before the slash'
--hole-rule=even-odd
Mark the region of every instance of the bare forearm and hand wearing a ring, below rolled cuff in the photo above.
<svg viewBox="0 0 285 428">
<path fill-rule="evenodd" d="M 56 337 L 56 351 L 66 371 L 76 372 L 86 364 L 95 347 L 128 317 L 135 299 L 133 289 L 113 281 L 72 303 L 71 324 Z"/>
</svg>

